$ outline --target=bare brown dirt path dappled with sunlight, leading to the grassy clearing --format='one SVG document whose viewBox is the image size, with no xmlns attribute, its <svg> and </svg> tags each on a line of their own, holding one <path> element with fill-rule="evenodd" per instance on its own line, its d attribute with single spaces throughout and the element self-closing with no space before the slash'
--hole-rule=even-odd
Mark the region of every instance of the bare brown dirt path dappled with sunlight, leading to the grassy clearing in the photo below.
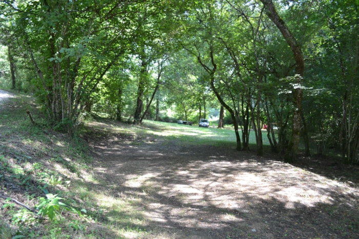
<svg viewBox="0 0 359 239">
<path fill-rule="evenodd" d="M 140 199 L 153 238 L 359 238 L 346 183 L 234 149 L 121 134 L 90 143 L 95 174 L 113 197 Z"/>
</svg>

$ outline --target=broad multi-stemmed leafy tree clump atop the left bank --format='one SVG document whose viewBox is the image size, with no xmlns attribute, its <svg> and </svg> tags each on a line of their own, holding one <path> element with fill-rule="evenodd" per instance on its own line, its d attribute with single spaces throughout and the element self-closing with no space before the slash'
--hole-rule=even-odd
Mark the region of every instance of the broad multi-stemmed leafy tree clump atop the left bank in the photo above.
<svg viewBox="0 0 359 239">
<path fill-rule="evenodd" d="M 134 10 L 122 1 L 65 0 L 11 8 L 38 77 L 36 95 L 49 121 L 73 133 L 98 83 L 129 50 Z"/>
</svg>

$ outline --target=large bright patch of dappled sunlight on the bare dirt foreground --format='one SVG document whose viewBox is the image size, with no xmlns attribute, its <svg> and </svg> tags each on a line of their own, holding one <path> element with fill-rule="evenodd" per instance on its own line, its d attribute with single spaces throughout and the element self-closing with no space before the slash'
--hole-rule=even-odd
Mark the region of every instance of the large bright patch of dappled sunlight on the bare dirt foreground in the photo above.
<svg viewBox="0 0 359 239">
<path fill-rule="evenodd" d="M 166 190 L 158 191 L 158 193 L 172 195 L 175 198 L 178 196 L 185 204 L 212 205 L 231 209 L 235 209 L 238 202 L 245 203 L 245 198 L 248 197 L 256 198 L 256 200 L 275 199 L 285 204 L 287 208 L 293 208 L 296 204 L 304 206 L 315 206 L 317 203 L 332 204 L 331 187 L 340 186 L 336 182 L 328 182 L 323 177 L 311 175 L 311 180 L 314 178 L 314 181 L 323 181 L 324 183 L 324 185 L 313 185 L 313 182 L 304 179 L 308 175 L 305 171 L 301 172 L 299 178 L 290 178 L 288 175 L 292 175 L 292 171 L 298 169 L 286 165 L 281 169 L 277 168 L 274 175 L 272 171 L 269 171 L 268 174 L 266 170 L 258 171 L 257 163 L 251 162 L 211 162 L 207 165 L 196 162 L 191 164 L 193 165 L 188 165 L 191 169 L 180 169 L 172 172 L 172 175 L 168 173 L 162 175 L 162 178 L 171 177 L 171 181 L 183 181 L 183 183 L 168 184 L 165 180 L 159 181 L 161 180 L 159 175 L 148 178 L 148 180 L 155 180 L 157 187 L 163 182 L 166 183 L 166 187 L 161 187 Z M 267 166 L 270 166 L 270 162 Z M 148 176 L 148 173 L 146 175 Z"/>
</svg>

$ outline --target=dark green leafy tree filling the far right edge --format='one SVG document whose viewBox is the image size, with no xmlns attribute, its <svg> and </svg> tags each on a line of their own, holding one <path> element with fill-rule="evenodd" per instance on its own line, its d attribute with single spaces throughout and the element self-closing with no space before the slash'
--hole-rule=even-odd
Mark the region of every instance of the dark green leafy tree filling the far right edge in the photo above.
<svg viewBox="0 0 359 239">
<path fill-rule="evenodd" d="M 359 162 L 358 7 L 355 1 L 329 1 L 327 26 L 318 33 L 322 39 L 322 84 L 329 88 L 333 99 L 338 99 L 329 101 L 327 107 L 333 110 L 329 110 L 326 117 L 336 119 L 335 125 L 339 122 L 338 127 L 332 128 L 332 134 L 338 139 L 335 142 L 339 142 L 343 159 L 352 163 Z"/>
</svg>

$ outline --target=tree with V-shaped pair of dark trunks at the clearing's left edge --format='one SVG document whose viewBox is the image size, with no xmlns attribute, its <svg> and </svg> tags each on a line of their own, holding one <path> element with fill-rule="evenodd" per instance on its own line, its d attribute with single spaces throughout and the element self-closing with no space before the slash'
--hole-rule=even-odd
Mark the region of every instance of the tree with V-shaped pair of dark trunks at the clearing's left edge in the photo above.
<svg viewBox="0 0 359 239">
<path fill-rule="evenodd" d="M 158 63 L 167 58 L 166 50 L 171 51 L 170 44 L 165 42 L 167 41 L 167 33 L 171 32 L 169 22 L 172 23 L 172 20 L 169 20 L 168 16 L 172 16 L 173 13 L 168 6 L 155 2 L 137 7 L 137 10 L 136 39 L 133 51 L 139 62 L 137 100 L 133 119 L 135 124 L 142 122 L 159 88 L 159 79 L 163 69 L 158 69 L 157 79 L 154 83 L 152 82 L 154 77 L 151 76 L 150 71 L 155 62 Z M 152 89 L 151 85 L 153 86 Z M 151 100 L 148 101 L 149 104 L 146 105 L 144 112 L 144 98 L 150 92 L 152 93 Z"/>
</svg>

